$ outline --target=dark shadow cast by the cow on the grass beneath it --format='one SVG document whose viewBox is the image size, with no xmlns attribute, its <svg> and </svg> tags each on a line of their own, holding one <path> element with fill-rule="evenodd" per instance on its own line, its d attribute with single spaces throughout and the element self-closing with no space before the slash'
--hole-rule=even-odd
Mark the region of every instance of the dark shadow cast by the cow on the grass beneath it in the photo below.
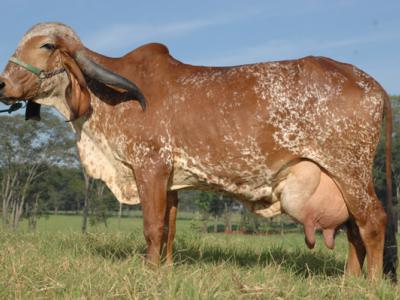
<svg viewBox="0 0 400 300">
<path fill-rule="evenodd" d="M 124 238 L 87 237 L 86 247 L 94 255 L 105 259 L 126 260 L 134 255 L 145 256 L 146 245 L 142 240 Z M 178 238 L 174 249 L 176 265 L 219 264 L 251 268 L 255 266 L 277 266 L 298 276 L 309 275 L 342 276 L 344 261 L 333 254 L 308 249 L 287 250 L 281 246 L 265 246 L 262 251 L 253 248 L 240 249 L 221 245 L 204 245 L 200 239 Z"/>
</svg>

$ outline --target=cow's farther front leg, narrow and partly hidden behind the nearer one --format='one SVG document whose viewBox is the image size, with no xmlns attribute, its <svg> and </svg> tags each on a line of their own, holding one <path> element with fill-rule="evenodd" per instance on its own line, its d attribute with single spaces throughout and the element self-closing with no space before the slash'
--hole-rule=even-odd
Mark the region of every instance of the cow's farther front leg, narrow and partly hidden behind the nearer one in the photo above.
<svg viewBox="0 0 400 300">
<path fill-rule="evenodd" d="M 173 244 L 176 232 L 176 215 L 178 209 L 178 192 L 170 191 L 167 194 L 167 211 L 164 219 L 163 244 L 166 245 L 166 262 L 173 264 Z"/>
</svg>

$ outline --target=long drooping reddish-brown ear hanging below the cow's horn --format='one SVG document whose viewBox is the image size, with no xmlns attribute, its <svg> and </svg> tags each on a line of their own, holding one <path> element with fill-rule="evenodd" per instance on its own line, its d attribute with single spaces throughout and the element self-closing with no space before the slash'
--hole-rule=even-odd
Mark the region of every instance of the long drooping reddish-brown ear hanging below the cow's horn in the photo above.
<svg viewBox="0 0 400 300">
<path fill-rule="evenodd" d="M 71 121 L 83 116 L 90 108 L 90 93 L 85 77 L 78 65 L 67 53 L 61 53 L 62 62 L 67 70 L 69 86 L 66 91 L 66 99 L 72 113 Z"/>
</svg>

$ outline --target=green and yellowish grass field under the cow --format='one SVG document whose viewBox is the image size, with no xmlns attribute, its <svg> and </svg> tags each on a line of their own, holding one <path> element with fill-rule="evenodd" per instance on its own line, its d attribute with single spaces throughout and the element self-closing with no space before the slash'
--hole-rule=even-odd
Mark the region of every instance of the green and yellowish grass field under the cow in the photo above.
<svg viewBox="0 0 400 300">
<path fill-rule="evenodd" d="M 81 218 L 1 230 L 1 299 L 399 299 L 387 281 L 345 278 L 345 234 L 334 251 L 302 234 L 202 234 L 178 221 L 175 265 L 149 269 L 140 219 L 80 233 Z"/>
</svg>

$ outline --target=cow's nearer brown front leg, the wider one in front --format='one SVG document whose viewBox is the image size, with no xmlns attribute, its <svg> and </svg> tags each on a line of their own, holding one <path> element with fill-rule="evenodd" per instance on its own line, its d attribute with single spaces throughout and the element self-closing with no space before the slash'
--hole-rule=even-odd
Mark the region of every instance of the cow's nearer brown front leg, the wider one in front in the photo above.
<svg viewBox="0 0 400 300">
<path fill-rule="evenodd" d="M 167 209 L 169 169 L 161 162 L 135 170 L 143 212 L 143 231 L 147 242 L 147 261 L 159 265 Z"/>
</svg>

